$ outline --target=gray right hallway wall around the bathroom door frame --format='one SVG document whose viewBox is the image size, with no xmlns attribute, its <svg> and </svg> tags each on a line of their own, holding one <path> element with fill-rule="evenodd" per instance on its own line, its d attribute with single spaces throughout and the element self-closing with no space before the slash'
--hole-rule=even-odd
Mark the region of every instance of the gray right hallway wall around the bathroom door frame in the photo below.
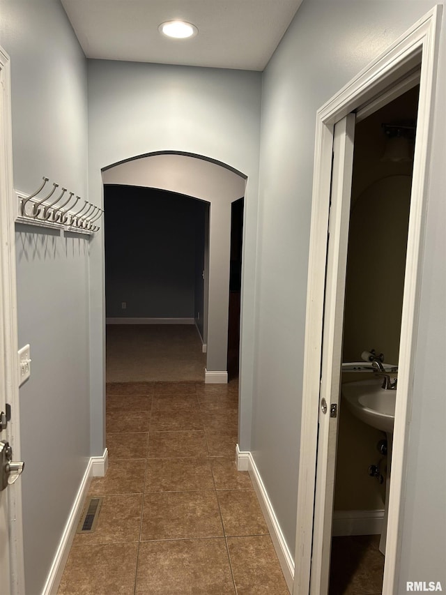
<svg viewBox="0 0 446 595">
<path fill-rule="evenodd" d="M 429 1 L 305 0 L 264 73 L 252 449 L 291 551 L 316 110 L 431 6 Z M 425 580 L 443 578 L 446 584 L 445 465 L 442 461 L 439 469 L 434 455 L 446 450 L 440 432 L 446 393 L 440 363 L 446 334 L 446 251 L 440 231 L 445 228 L 440 193 L 445 185 L 445 57 L 443 51 L 398 592 L 406 591 L 406 580 L 427 575 Z"/>
</svg>

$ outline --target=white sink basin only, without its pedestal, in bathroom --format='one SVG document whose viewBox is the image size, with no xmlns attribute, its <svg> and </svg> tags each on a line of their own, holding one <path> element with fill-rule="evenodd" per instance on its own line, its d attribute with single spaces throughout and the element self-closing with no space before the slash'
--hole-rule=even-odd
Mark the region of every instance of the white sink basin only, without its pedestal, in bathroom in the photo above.
<svg viewBox="0 0 446 595">
<path fill-rule="evenodd" d="M 392 434 L 397 391 L 385 390 L 382 384 L 382 378 L 349 382 L 341 386 L 341 396 L 357 419 Z"/>
</svg>

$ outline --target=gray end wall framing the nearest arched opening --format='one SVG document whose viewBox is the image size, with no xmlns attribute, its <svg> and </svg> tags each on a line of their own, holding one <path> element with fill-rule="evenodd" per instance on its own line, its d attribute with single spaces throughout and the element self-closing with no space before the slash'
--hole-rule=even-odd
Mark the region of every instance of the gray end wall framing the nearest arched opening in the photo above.
<svg viewBox="0 0 446 595">
<path fill-rule="evenodd" d="M 89 61 L 89 192 L 93 202 L 100 204 L 102 200 L 102 168 L 154 151 L 206 156 L 247 176 L 241 339 L 244 364 L 240 378 L 245 396 L 240 408 L 243 449 L 248 449 L 251 428 L 260 103 L 261 73 Z M 217 204 L 210 209 L 211 222 L 226 217 L 226 211 L 230 218 L 230 209 L 218 209 Z M 210 226 L 213 228 L 212 223 Z M 218 232 L 216 229 L 211 234 L 211 242 Z M 97 234 L 91 243 L 91 439 L 96 452 L 102 452 L 104 444 L 102 283 L 102 236 Z M 211 304 L 212 299 L 209 308 Z M 211 312 L 209 316 L 211 319 Z M 208 369 L 220 369 L 214 367 L 210 354 Z"/>
</svg>

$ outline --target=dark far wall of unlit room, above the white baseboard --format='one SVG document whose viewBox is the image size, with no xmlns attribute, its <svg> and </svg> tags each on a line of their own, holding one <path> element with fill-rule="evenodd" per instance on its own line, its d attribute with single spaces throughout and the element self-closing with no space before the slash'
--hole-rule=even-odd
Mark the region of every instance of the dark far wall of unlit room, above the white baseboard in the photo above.
<svg viewBox="0 0 446 595">
<path fill-rule="evenodd" d="M 107 317 L 194 318 L 205 203 L 107 185 L 104 205 Z"/>
</svg>

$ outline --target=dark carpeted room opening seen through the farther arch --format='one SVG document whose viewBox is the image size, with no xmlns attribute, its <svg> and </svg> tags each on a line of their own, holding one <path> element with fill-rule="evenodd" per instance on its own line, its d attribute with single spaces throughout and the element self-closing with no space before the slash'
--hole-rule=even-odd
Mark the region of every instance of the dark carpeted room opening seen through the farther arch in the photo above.
<svg viewBox="0 0 446 595">
<path fill-rule="evenodd" d="M 208 203 L 106 185 L 107 382 L 202 382 Z"/>
</svg>

